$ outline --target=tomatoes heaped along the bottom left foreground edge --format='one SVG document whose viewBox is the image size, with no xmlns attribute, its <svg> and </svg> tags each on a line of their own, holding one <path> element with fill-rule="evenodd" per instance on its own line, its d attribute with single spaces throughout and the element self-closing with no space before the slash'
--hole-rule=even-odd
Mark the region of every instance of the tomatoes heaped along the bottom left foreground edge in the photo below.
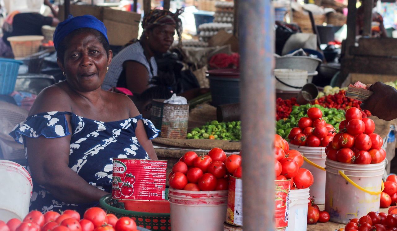
<svg viewBox="0 0 397 231">
<path fill-rule="evenodd" d="M 137 231 L 137 225 L 129 217 L 118 219 L 114 214 L 98 207 L 85 211 L 83 219 L 74 210 L 62 214 L 48 211 L 44 214 L 34 210 L 21 222 L 17 218 L 7 223 L 0 221 L 0 231 Z"/>
</svg>

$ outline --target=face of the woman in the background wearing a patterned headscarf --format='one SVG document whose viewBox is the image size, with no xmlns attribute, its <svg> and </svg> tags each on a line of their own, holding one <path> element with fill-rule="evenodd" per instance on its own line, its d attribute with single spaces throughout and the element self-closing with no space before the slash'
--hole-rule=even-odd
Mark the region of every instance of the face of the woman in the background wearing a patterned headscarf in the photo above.
<svg viewBox="0 0 397 231">
<path fill-rule="evenodd" d="M 166 53 L 172 45 L 174 35 L 175 27 L 172 25 L 153 28 L 147 34 L 149 37 L 150 49 L 155 53 Z"/>
</svg>

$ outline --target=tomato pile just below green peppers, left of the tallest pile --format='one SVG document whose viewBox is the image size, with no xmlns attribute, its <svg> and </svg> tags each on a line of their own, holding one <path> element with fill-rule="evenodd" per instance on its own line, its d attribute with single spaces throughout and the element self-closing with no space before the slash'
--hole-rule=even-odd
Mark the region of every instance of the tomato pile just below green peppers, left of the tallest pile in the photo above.
<svg viewBox="0 0 397 231">
<path fill-rule="evenodd" d="M 308 117 L 302 117 L 298 121 L 298 127 L 289 132 L 288 138 L 291 144 L 309 147 L 325 147 L 335 136 L 335 129 L 322 119 L 319 108 L 309 108 Z"/>
</svg>

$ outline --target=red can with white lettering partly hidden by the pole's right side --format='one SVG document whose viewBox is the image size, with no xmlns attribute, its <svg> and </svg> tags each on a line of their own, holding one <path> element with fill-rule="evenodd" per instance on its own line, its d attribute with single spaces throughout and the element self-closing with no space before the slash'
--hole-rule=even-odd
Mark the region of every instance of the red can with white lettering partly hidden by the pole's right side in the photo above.
<svg viewBox="0 0 397 231">
<path fill-rule="evenodd" d="M 289 210 L 289 189 L 291 187 L 291 179 L 275 180 L 276 187 L 276 211 L 274 217 L 276 219 L 276 229 L 278 231 L 285 230 L 288 226 L 288 210 Z"/>
</svg>

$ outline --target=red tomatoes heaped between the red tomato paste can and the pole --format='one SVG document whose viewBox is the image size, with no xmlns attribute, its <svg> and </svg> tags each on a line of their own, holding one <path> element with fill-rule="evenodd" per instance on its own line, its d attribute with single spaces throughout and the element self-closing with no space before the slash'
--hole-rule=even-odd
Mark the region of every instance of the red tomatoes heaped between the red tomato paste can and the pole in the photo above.
<svg viewBox="0 0 397 231">
<path fill-rule="evenodd" d="M 220 148 L 213 148 L 208 155 L 198 156 L 188 151 L 173 166 L 169 175 L 170 187 L 188 191 L 213 191 L 229 189 L 229 175 L 241 178 L 241 155 L 229 157 Z"/>
</svg>

